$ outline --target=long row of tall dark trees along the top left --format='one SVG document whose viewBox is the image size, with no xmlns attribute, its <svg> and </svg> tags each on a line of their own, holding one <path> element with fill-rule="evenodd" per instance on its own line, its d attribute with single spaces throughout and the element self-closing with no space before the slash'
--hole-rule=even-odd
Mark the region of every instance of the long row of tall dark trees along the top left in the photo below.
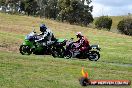
<svg viewBox="0 0 132 88">
<path fill-rule="evenodd" d="M 86 2 L 85 2 L 86 1 Z M 19 4 L 19 12 L 87 26 L 93 21 L 91 0 L 0 0 L 0 5 Z"/>
</svg>

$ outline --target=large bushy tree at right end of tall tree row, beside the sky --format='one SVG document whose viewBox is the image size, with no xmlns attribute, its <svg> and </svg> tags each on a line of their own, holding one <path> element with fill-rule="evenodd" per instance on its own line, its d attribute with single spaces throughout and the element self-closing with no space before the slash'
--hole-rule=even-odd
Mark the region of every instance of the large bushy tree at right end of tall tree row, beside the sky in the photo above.
<svg viewBox="0 0 132 88">
<path fill-rule="evenodd" d="M 84 0 L 59 0 L 58 19 L 61 21 L 67 21 L 70 24 L 80 24 L 87 26 L 93 21 L 92 6 L 89 6 L 91 0 L 86 0 L 87 4 L 84 4 Z"/>
</svg>

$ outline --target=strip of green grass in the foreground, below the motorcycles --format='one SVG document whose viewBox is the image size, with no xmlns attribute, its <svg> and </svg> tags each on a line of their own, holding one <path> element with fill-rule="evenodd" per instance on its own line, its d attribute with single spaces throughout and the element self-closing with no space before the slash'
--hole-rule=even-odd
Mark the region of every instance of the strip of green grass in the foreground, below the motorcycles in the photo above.
<svg viewBox="0 0 132 88">
<path fill-rule="evenodd" d="M 82 66 L 89 72 L 91 79 L 132 79 L 131 67 L 101 62 L 22 56 L 6 52 L 1 52 L 0 58 L 2 88 L 79 88 Z"/>
</svg>

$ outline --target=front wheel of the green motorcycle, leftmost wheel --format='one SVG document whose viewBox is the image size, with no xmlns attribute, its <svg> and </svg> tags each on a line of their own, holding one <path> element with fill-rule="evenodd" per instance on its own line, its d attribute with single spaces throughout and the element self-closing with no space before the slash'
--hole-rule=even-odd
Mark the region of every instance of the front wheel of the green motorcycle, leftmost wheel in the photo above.
<svg viewBox="0 0 132 88">
<path fill-rule="evenodd" d="M 22 55 L 30 55 L 32 53 L 31 48 L 27 45 L 21 45 L 19 51 Z"/>
</svg>

